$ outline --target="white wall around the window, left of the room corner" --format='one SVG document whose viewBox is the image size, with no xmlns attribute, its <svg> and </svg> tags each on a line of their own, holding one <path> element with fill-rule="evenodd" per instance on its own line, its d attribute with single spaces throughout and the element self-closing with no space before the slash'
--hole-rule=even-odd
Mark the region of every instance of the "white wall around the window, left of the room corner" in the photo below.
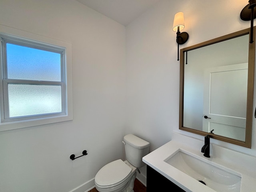
<svg viewBox="0 0 256 192">
<path fill-rule="evenodd" d="M 75 0 L 1 0 L 0 25 L 72 44 L 74 112 L 0 132 L 0 191 L 88 190 L 104 164 L 124 159 L 125 27 Z"/>
</svg>

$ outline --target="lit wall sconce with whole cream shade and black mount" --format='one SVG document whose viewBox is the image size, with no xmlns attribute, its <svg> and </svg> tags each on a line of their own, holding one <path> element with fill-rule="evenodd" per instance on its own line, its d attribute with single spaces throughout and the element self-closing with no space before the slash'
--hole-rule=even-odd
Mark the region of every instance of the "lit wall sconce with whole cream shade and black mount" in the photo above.
<svg viewBox="0 0 256 192">
<path fill-rule="evenodd" d="M 184 25 L 184 14 L 183 12 L 178 12 L 174 16 L 174 21 L 173 21 L 173 31 L 176 31 L 177 36 L 176 36 L 176 42 L 178 44 L 178 60 L 179 60 L 179 45 L 182 45 L 187 42 L 188 40 L 188 33 L 187 32 L 180 32 L 182 29 L 185 28 Z"/>
</svg>

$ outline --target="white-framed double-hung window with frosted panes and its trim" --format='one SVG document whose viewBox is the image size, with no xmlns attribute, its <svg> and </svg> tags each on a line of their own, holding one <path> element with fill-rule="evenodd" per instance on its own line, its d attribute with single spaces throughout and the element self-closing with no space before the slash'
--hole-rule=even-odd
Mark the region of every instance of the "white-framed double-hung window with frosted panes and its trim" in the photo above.
<svg viewBox="0 0 256 192">
<path fill-rule="evenodd" d="M 68 116 L 66 48 L 16 36 L 0 37 L 0 130 L 70 120 L 63 118 Z M 9 125 L 19 123 L 23 125 Z"/>
</svg>

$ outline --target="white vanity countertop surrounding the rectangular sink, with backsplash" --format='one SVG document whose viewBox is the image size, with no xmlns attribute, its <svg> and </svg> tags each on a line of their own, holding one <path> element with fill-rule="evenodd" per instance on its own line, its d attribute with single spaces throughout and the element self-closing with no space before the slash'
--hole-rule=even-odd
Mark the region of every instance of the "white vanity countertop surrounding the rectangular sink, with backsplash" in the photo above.
<svg viewBox="0 0 256 192">
<path fill-rule="evenodd" d="M 150 154 L 144 156 L 142 161 L 168 178 L 174 184 L 186 192 L 216 192 L 215 190 L 200 184 L 196 179 L 188 176 L 184 172 L 174 168 L 164 160 L 168 159 L 178 150 L 185 150 L 196 156 L 200 156 L 210 164 L 218 164 L 241 175 L 240 192 L 256 192 L 256 158 L 248 156 L 227 148 L 211 144 L 210 158 L 206 158 L 201 153 L 204 142 L 197 140 L 196 144 L 183 144 L 172 140 Z M 201 146 L 201 147 L 198 147 Z M 218 154 L 219 153 L 219 154 Z"/>
</svg>

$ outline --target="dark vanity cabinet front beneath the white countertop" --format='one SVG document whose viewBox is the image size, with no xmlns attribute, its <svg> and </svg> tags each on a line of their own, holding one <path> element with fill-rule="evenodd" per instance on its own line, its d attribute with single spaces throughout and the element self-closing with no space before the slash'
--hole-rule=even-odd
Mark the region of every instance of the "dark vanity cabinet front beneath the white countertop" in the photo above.
<svg viewBox="0 0 256 192">
<path fill-rule="evenodd" d="M 186 192 L 147 165 L 147 192 Z"/>
</svg>

